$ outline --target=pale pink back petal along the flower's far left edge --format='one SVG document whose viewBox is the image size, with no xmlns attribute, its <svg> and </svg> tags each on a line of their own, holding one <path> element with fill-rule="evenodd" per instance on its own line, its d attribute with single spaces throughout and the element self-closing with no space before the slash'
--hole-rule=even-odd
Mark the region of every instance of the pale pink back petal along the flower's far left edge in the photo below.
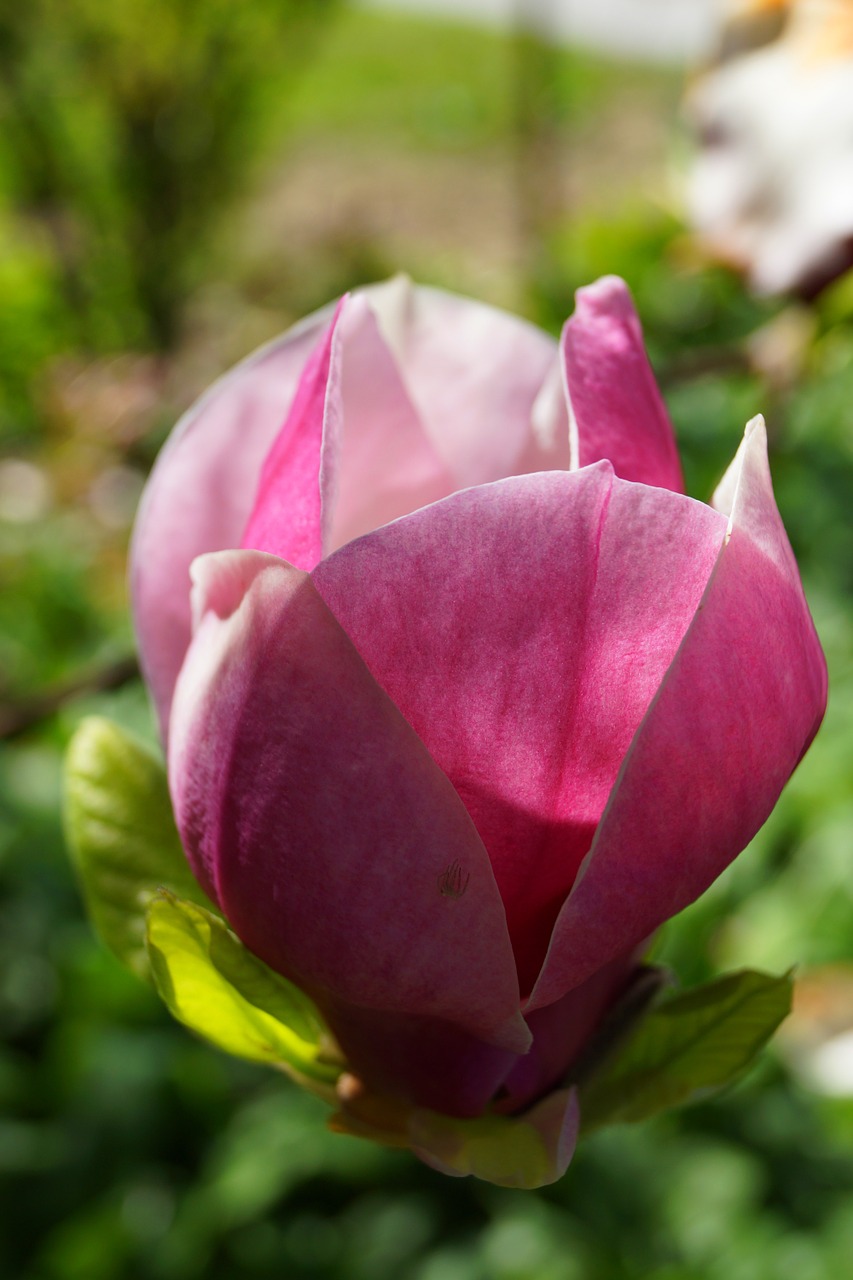
<svg viewBox="0 0 853 1280">
<path fill-rule="evenodd" d="M 282 429 L 305 362 L 332 319 L 310 316 L 192 406 L 145 489 L 131 548 L 131 594 L 145 680 L 161 732 L 190 644 L 190 564 L 240 545 L 264 457 Z"/>
</svg>

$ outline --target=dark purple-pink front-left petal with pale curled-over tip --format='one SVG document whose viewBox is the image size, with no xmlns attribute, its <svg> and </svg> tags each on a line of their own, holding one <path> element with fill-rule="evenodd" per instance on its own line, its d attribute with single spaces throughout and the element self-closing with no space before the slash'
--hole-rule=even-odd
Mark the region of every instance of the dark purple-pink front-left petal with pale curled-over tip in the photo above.
<svg viewBox="0 0 853 1280">
<path fill-rule="evenodd" d="M 323 1006 L 442 1019 L 524 1052 L 501 899 L 465 808 L 307 575 L 193 566 L 169 780 L 200 882 Z"/>
</svg>

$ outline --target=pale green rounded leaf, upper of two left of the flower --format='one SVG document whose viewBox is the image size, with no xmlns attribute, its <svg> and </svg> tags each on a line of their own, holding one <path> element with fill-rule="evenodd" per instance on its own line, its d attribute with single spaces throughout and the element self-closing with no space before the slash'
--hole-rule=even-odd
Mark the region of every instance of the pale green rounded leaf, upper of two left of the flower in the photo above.
<svg viewBox="0 0 853 1280">
<path fill-rule="evenodd" d="M 215 909 L 181 847 L 161 762 L 101 717 L 85 719 L 68 748 L 65 835 L 95 928 L 151 980 L 145 913 L 158 890 Z"/>
</svg>

